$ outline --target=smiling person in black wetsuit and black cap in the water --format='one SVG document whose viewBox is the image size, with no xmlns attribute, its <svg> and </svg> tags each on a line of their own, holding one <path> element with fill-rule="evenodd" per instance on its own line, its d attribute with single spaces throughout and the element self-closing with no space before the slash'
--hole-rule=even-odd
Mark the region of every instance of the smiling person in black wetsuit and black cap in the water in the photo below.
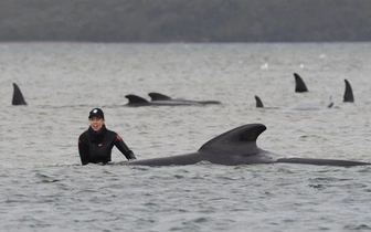
<svg viewBox="0 0 371 232">
<path fill-rule="evenodd" d="M 93 108 L 88 116 L 91 126 L 78 137 L 78 152 L 82 165 L 107 164 L 110 161 L 114 146 L 128 159 L 136 159 L 123 138 L 106 128 L 104 113 L 100 108 Z"/>
</svg>

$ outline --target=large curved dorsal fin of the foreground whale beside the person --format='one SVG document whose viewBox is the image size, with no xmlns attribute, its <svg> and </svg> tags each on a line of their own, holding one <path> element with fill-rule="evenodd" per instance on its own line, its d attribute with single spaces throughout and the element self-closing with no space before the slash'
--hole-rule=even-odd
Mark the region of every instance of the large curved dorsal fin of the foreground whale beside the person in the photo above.
<svg viewBox="0 0 371 232">
<path fill-rule="evenodd" d="M 247 124 L 240 126 L 220 136 L 206 141 L 199 151 L 223 151 L 231 152 L 233 148 L 234 152 L 254 151 L 257 149 L 256 139 L 266 130 L 266 126 L 263 124 Z"/>
</svg>

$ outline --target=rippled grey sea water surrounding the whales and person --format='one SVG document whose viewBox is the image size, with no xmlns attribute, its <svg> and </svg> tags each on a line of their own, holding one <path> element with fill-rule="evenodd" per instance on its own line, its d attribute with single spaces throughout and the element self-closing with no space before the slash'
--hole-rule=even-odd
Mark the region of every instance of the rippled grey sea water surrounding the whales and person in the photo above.
<svg viewBox="0 0 371 232">
<path fill-rule="evenodd" d="M 371 43 L 1 43 L 0 231 L 369 231 L 369 167 L 81 166 L 102 107 L 138 159 L 267 126 L 280 156 L 371 161 Z M 295 93 L 293 73 L 308 93 Z M 344 78 L 354 103 L 343 103 Z M 12 106 L 17 83 L 26 106 Z M 126 107 L 149 92 L 221 105 Z M 266 106 L 258 109 L 254 96 Z M 332 108 L 325 108 L 332 97 Z M 297 103 L 320 110 L 292 110 Z M 125 157 L 113 150 L 113 161 Z"/>
</svg>

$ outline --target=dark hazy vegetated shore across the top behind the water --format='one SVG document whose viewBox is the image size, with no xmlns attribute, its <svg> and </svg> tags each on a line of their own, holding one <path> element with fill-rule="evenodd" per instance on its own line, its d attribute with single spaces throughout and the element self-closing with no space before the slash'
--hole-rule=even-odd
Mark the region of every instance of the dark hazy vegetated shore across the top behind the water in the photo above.
<svg viewBox="0 0 371 232">
<path fill-rule="evenodd" d="M 0 41 L 371 41 L 371 1 L 2 0 Z"/>
</svg>

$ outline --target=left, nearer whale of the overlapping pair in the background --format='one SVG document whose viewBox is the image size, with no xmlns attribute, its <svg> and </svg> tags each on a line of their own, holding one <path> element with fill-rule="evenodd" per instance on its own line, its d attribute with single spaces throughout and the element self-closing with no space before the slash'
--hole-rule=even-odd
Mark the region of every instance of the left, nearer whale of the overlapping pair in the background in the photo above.
<svg viewBox="0 0 371 232">
<path fill-rule="evenodd" d="M 125 96 L 128 98 L 128 103 L 126 106 L 130 107 L 139 107 L 139 106 L 192 106 L 192 105 L 201 105 L 198 103 L 191 103 L 191 102 L 181 102 L 181 101 L 153 101 L 149 102 L 138 95 L 128 94 Z"/>
</svg>

